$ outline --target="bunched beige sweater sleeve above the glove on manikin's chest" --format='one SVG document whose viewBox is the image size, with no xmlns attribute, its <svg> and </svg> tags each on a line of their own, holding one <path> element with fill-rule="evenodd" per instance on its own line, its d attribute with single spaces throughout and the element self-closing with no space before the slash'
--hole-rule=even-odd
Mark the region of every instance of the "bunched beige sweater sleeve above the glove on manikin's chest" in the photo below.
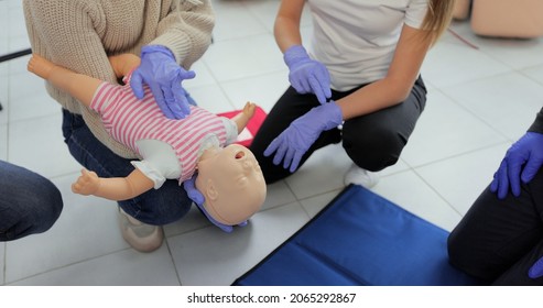
<svg viewBox="0 0 543 308">
<path fill-rule="evenodd" d="M 209 47 L 214 26 L 210 0 L 173 0 L 150 45 L 166 46 L 188 69 Z"/>
</svg>

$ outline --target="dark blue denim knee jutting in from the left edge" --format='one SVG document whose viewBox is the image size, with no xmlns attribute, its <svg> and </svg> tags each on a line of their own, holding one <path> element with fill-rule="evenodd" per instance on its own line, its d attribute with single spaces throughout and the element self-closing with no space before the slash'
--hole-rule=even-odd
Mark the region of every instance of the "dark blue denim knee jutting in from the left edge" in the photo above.
<svg viewBox="0 0 543 308">
<path fill-rule="evenodd" d="M 62 195 L 53 183 L 0 161 L 0 241 L 47 231 L 62 209 Z"/>
</svg>

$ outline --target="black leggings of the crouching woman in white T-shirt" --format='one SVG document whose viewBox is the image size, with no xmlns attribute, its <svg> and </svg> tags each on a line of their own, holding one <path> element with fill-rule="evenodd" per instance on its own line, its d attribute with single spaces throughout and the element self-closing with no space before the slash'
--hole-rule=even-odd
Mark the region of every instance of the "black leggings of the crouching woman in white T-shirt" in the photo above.
<svg viewBox="0 0 543 308">
<path fill-rule="evenodd" d="M 332 91 L 332 99 L 338 100 L 362 87 L 346 92 Z M 294 120 L 318 105 L 314 95 L 298 95 L 290 87 L 268 114 L 251 144 L 268 184 L 283 179 L 291 173 L 282 164 L 274 165 L 273 155 L 265 157 L 264 150 Z M 316 150 L 341 141 L 347 155 L 359 167 L 378 172 L 391 166 L 398 162 L 425 105 L 426 87 L 419 77 L 402 103 L 345 121 L 341 130 L 323 132 L 302 157 L 300 166 Z"/>
</svg>

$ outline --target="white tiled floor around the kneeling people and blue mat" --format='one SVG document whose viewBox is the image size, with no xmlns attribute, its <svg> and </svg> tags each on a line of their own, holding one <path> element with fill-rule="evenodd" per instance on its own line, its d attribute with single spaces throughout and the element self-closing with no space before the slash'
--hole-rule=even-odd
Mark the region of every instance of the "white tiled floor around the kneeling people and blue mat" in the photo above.
<svg viewBox="0 0 543 308">
<path fill-rule="evenodd" d="M 215 112 L 252 100 L 269 110 L 287 86 L 272 36 L 278 0 L 214 0 L 215 43 L 186 87 Z M 304 33 L 311 20 L 304 15 Z M 428 102 L 401 161 L 372 189 L 452 230 L 508 146 L 543 103 L 543 40 L 490 40 L 469 24 L 430 53 L 423 76 Z M 21 1 L 0 0 L 0 55 L 29 47 Z M 156 252 L 133 251 L 120 237 L 116 204 L 69 190 L 79 166 L 62 140 L 61 112 L 28 56 L 0 64 L 0 158 L 51 178 L 65 209 L 46 233 L 0 243 L 0 285 L 229 285 L 298 230 L 343 188 L 349 160 L 339 146 L 315 153 L 284 182 L 269 186 L 264 208 L 231 234 L 195 210 L 165 227 Z M 35 150 L 40 148 L 39 152 Z"/>
</svg>

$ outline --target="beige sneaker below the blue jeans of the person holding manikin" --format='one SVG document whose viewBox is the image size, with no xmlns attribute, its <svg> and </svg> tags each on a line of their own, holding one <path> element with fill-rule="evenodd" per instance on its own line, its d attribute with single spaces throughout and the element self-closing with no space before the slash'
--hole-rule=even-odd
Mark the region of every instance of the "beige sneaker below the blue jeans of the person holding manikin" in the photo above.
<svg viewBox="0 0 543 308">
<path fill-rule="evenodd" d="M 162 245 L 162 227 L 145 224 L 119 208 L 119 224 L 122 238 L 139 252 L 152 252 Z"/>
</svg>

